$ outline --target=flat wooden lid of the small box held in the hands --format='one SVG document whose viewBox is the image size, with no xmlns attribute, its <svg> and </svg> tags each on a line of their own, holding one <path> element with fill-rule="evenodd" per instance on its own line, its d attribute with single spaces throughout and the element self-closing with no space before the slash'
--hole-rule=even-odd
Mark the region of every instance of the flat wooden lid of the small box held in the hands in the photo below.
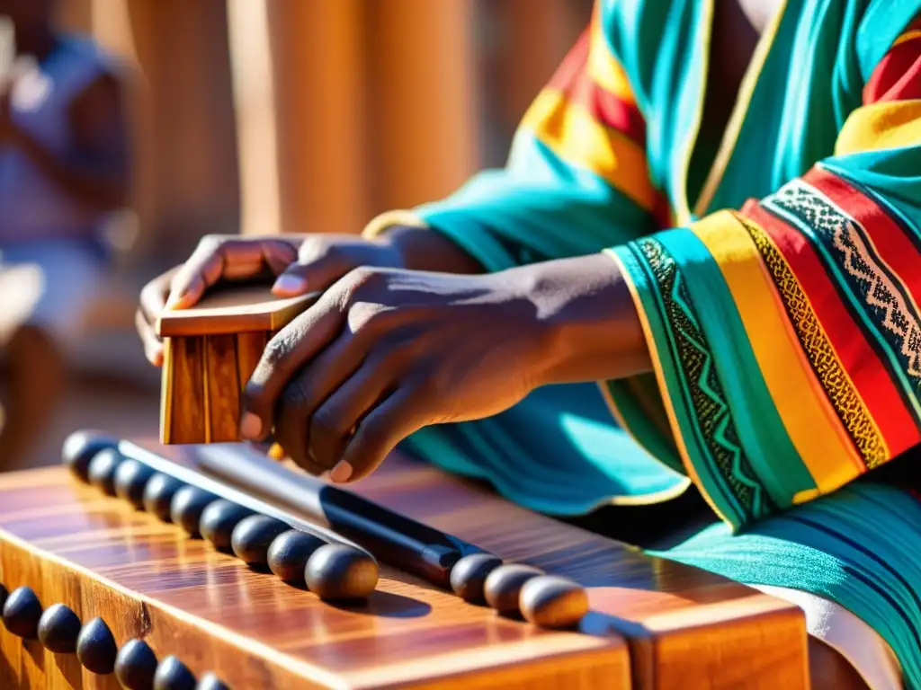
<svg viewBox="0 0 921 690">
<path fill-rule="evenodd" d="M 164 311 L 157 333 L 166 338 L 278 330 L 316 298 L 315 293 L 276 297 L 271 285 L 220 290 L 188 309 Z"/>
</svg>

